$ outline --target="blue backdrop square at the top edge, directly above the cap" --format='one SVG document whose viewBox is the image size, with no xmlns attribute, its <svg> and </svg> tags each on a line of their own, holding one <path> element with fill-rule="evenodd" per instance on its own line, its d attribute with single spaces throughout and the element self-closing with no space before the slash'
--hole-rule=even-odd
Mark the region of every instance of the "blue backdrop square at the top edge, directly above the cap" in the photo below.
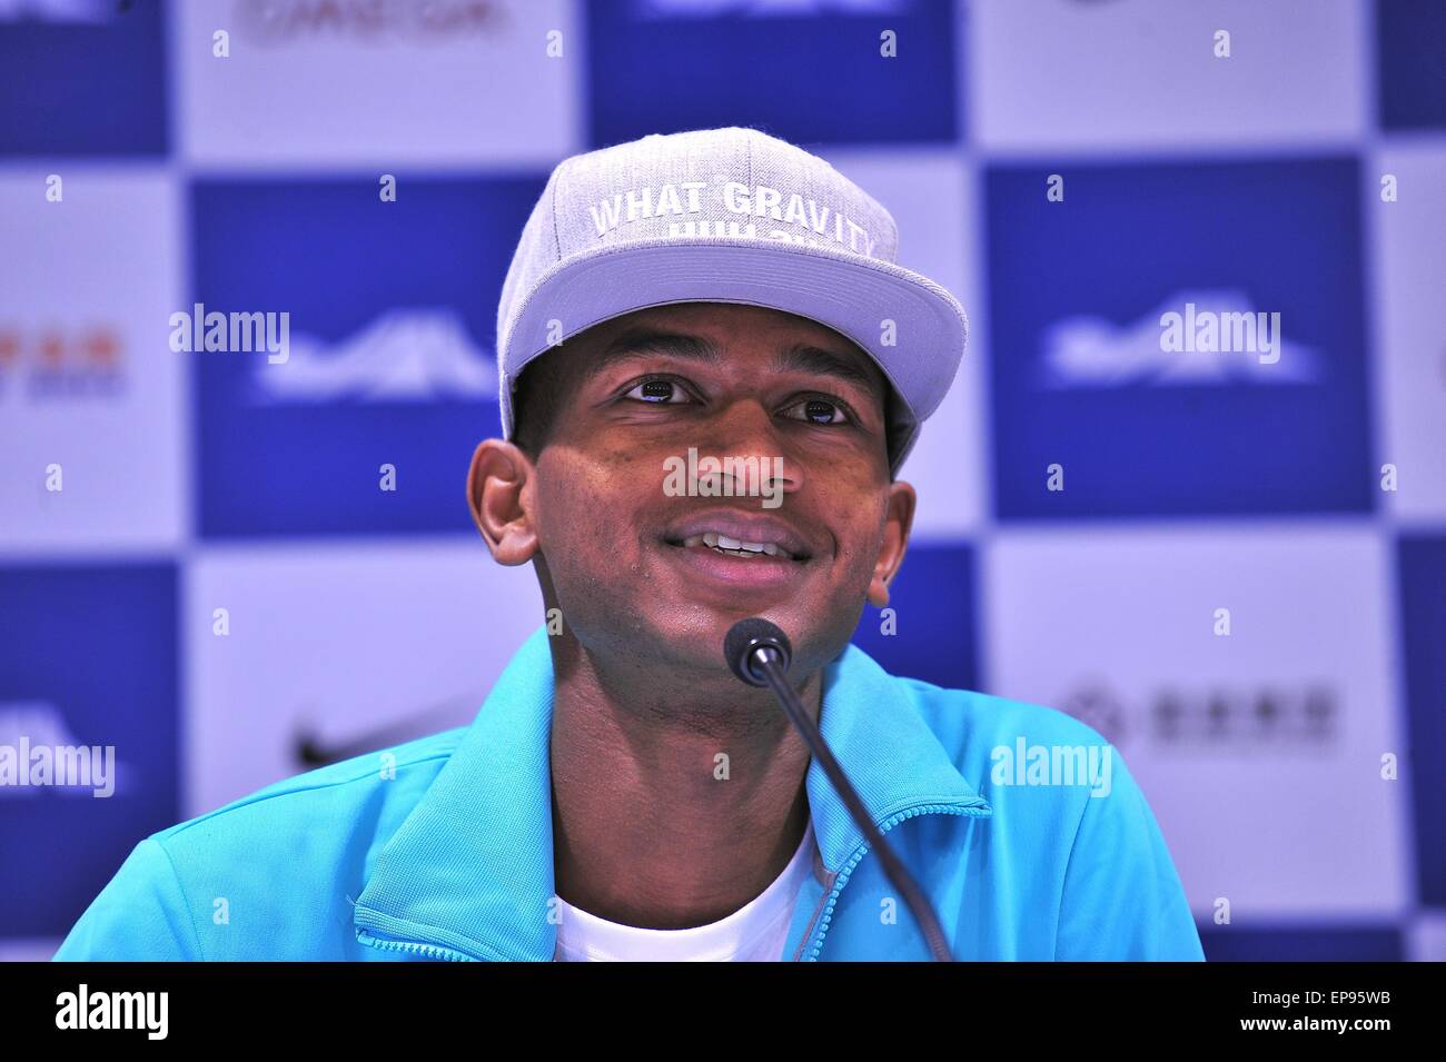
<svg viewBox="0 0 1446 1062">
<path fill-rule="evenodd" d="M 813 144 L 960 136 L 951 3 L 599 0 L 587 25 L 594 146 L 719 126 Z"/>
</svg>

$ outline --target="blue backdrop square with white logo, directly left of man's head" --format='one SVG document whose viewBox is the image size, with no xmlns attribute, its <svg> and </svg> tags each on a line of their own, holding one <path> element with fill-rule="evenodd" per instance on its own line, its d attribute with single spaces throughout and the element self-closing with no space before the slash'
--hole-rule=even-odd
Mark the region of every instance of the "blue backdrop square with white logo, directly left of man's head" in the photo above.
<svg viewBox="0 0 1446 1062">
<path fill-rule="evenodd" d="M 285 354 L 175 355 L 197 364 L 204 538 L 473 527 L 467 465 L 502 431 L 495 298 L 542 184 L 402 175 L 395 202 L 364 178 L 192 186 L 191 345 L 198 314 L 227 337 L 233 314 L 273 332 L 289 315 Z"/>
</svg>

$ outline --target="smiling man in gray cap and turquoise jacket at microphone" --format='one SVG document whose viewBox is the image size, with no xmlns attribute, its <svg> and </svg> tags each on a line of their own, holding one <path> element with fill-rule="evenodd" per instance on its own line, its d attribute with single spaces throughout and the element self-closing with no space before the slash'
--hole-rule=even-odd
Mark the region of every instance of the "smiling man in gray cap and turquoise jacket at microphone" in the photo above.
<svg viewBox="0 0 1446 1062">
<path fill-rule="evenodd" d="M 1203 958 L 1099 734 L 849 643 L 888 604 L 897 472 L 966 335 L 895 249 L 878 202 L 756 130 L 558 166 L 503 285 L 503 438 L 467 480 L 547 621 L 470 727 L 142 841 L 56 958 L 928 958 L 772 694 L 730 672 L 752 616 L 790 636 L 956 958 Z"/>
</svg>

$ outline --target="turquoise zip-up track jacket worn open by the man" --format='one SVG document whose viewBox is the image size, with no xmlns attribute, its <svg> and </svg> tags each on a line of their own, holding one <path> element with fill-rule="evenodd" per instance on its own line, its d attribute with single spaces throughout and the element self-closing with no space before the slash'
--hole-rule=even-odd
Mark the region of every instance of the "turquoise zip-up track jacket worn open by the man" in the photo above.
<svg viewBox="0 0 1446 1062">
<path fill-rule="evenodd" d="M 542 626 L 470 725 L 152 834 L 55 959 L 551 959 L 552 683 Z M 1150 805 L 1090 727 L 853 644 L 820 722 L 957 959 L 1205 958 Z M 817 761 L 805 787 L 820 852 L 784 959 L 928 959 Z"/>
</svg>

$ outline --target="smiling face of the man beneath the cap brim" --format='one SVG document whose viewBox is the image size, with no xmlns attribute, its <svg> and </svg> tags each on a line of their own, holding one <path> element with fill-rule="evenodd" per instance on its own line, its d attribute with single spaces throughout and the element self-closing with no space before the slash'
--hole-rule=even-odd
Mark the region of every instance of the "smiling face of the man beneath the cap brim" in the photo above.
<svg viewBox="0 0 1446 1062">
<path fill-rule="evenodd" d="M 548 605 L 584 646 L 719 668 L 729 627 L 763 616 L 813 669 L 849 642 L 866 595 L 886 603 L 914 491 L 889 483 L 886 384 L 850 341 L 759 306 L 677 303 L 544 357 L 561 361 L 560 392 L 519 496 L 531 511 L 499 522 L 513 542 L 493 552 L 536 559 Z M 756 475 L 694 475 L 706 458 L 752 458 L 732 470 Z M 479 478 L 474 458 L 474 504 Z M 704 496 L 710 484 L 735 493 Z M 769 552 L 720 552 L 714 532 Z"/>
</svg>

